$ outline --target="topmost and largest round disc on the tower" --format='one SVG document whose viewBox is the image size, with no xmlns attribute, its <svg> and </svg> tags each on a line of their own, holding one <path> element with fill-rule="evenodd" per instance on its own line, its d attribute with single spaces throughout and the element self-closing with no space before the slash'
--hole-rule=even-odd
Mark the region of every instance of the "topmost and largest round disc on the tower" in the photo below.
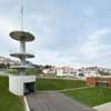
<svg viewBox="0 0 111 111">
<path fill-rule="evenodd" d="M 32 40 L 34 40 L 34 36 L 32 36 L 30 32 L 26 32 L 26 31 L 12 31 L 12 32 L 10 32 L 10 37 L 12 39 L 16 39 L 19 41 L 32 41 Z"/>
</svg>

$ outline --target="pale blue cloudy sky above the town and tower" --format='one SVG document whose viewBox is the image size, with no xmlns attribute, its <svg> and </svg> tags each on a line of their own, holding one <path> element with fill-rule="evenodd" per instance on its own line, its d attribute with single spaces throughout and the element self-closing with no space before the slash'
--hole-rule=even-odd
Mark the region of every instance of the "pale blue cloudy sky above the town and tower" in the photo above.
<svg viewBox="0 0 111 111">
<path fill-rule="evenodd" d="M 18 51 L 21 0 L 0 0 L 0 56 Z M 111 68 L 111 0 L 24 0 L 24 30 L 34 63 Z"/>
</svg>

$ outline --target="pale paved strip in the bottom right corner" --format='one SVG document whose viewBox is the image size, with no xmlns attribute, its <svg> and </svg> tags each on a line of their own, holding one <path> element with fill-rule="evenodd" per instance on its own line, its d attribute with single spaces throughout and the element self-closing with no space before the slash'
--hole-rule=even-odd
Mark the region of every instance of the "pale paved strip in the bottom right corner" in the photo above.
<svg viewBox="0 0 111 111">
<path fill-rule="evenodd" d="M 111 111 L 111 102 L 94 107 L 93 109 L 98 111 Z"/>
</svg>

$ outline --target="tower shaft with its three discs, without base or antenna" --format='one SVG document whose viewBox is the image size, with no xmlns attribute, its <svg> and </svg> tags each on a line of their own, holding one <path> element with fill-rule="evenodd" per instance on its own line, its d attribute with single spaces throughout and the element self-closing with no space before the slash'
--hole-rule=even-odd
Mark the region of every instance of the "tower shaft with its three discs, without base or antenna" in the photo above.
<svg viewBox="0 0 111 111">
<path fill-rule="evenodd" d="M 12 65 L 12 69 L 18 69 L 20 75 L 26 75 L 26 69 L 32 68 L 26 63 L 27 58 L 33 58 L 33 54 L 26 52 L 26 42 L 30 42 L 34 40 L 34 37 L 26 31 L 12 31 L 10 32 L 10 37 L 14 40 L 18 40 L 20 42 L 20 52 L 18 53 L 11 53 L 11 57 L 16 57 L 20 59 L 20 65 Z"/>
</svg>

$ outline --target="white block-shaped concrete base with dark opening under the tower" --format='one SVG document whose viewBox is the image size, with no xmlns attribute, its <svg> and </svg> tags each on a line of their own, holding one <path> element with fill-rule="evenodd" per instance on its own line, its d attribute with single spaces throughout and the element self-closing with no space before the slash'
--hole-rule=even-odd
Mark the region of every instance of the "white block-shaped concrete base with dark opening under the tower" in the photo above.
<svg viewBox="0 0 111 111">
<path fill-rule="evenodd" d="M 30 90 L 34 91 L 36 75 L 9 75 L 9 91 L 13 94 L 23 95 L 28 93 L 28 83 L 30 83 Z"/>
</svg>

